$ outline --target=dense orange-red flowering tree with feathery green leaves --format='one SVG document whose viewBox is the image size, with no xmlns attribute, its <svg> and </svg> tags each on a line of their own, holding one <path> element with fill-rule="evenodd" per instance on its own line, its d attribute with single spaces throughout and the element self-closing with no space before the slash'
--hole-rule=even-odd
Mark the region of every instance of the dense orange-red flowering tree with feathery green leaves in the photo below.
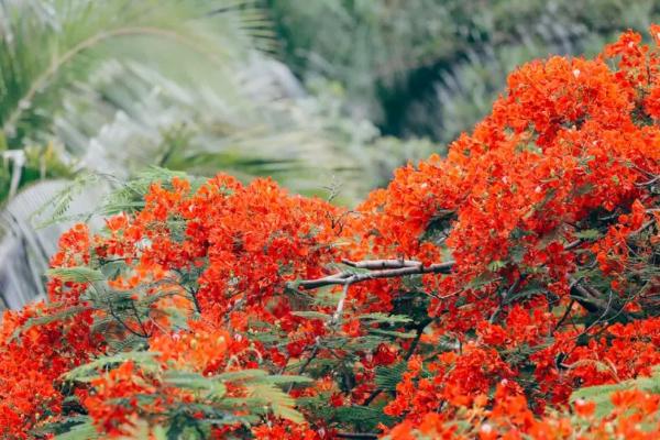
<svg viewBox="0 0 660 440">
<path fill-rule="evenodd" d="M 62 237 L 50 301 L 6 314 L 2 438 L 657 438 L 651 34 L 521 66 L 354 210 L 268 179 L 132 187 Z"/>
</svg>

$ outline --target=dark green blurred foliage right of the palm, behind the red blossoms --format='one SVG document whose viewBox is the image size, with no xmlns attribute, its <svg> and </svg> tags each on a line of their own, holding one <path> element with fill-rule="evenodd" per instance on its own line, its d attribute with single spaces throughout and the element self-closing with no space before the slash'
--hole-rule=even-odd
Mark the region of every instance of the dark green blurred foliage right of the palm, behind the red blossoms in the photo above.
<svg viewBox="0 0 660 440">
<path fill-rule="evenodd" d="M 517 65 L 590 54 L 658 21 L 654 0 L 264 0 L 287 64 L 331 78 L 352 114 L 441 144 L 490 109 Z"/>
</svg>

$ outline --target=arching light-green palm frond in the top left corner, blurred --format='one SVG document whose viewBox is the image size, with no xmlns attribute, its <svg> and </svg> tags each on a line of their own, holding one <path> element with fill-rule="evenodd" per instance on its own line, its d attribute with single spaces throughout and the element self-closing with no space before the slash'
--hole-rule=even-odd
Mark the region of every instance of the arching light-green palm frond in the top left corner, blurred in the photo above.
<svg viewBox="0 0 660 440">
<path fill-rule="evenodd" d="M 167 51 L 155 47 L 176 46 L 222 69 L 265 23 L 229 0 L 4 0 L 0 22 L 0 124 L 14 147 L 42 140 L 62 94 L 105 58 L 156 63 Z"/>
</svg>

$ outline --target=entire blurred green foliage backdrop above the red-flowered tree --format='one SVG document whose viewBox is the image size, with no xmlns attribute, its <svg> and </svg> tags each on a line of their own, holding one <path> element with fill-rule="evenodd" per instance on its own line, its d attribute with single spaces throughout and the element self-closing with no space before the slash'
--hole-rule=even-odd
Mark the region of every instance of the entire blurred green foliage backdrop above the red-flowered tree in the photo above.
<svg viewBox="0 0 660 440">
<path fill-rule="evenodd" d="M 341 184 L 353 204 L 442 154 L 516 65 L 659 15 L 653 0 L 0 0 L 0 200 L 157 165 Z"/>
</svg>

